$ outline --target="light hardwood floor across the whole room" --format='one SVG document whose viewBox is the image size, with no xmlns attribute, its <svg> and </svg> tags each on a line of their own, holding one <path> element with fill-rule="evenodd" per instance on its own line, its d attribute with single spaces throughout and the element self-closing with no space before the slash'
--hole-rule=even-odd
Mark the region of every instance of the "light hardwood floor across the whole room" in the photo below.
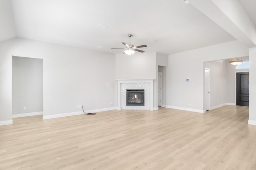
<svg viewBox="0 0 256 170">
<path fill-rule="evenodd" d="M 247 122 L 245 106 L 14 118 L 0 127 L 0 169 L 253 170 L 256 126 Z"/>
</svg>

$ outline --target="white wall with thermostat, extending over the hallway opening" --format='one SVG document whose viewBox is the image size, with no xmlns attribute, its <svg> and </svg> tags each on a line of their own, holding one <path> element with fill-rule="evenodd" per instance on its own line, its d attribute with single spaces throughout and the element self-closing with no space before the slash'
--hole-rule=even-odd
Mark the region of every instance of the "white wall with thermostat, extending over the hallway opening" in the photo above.
<svg viewBox="0 0 256 170">
<path fill-rule="evenodd" d="M 203 112 L 203 63 L 244 56 L 248 56 L 248 48 L 239 41 L 169 55 L 168 107 Z M 186 78 L 190 78 L 190 82 L 186 82 Z"/>
</svg>

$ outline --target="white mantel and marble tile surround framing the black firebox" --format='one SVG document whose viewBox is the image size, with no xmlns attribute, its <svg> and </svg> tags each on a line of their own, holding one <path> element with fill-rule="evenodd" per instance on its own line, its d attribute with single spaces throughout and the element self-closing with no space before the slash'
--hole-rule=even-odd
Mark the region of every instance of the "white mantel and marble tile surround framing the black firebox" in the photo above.
<svg viewBox="0 0 256 170">
<path fill-rule="evenodd" d="M 153 79 L 138 79 L 117 81 L 117 109 L 140 109 L 153 111 Z M 144 89 L 145 106 L 126 106 L 126 89 Z"/>
</svg>

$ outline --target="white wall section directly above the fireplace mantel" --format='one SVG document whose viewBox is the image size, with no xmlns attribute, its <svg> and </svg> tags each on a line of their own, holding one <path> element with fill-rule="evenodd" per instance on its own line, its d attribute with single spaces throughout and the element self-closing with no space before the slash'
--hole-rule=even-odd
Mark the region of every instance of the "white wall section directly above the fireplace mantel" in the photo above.
<svg viewBox="0 0 256 170">
<path fill-rule="evenodd" d="M 155 79 L 156 53 L 116 54 L 116 79 Z"/>
</svg>

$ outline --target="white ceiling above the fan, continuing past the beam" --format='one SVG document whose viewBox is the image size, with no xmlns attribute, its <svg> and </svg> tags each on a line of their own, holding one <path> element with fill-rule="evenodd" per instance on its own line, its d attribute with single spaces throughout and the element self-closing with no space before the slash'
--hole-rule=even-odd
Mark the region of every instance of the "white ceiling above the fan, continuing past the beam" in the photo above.
<svg viewBox="0 0 256 170">
<path fill-rule="evenodd" d="M 238 1 L 256 25 L 256 0 Z M 12 6 L 17 37 L 110 53 L 124 51 L 110 48 L 124 47 L 129 33 L 131 44 L 164 54 L 236 40 L 183 0 L 12 0 Z"/>
</svg>

